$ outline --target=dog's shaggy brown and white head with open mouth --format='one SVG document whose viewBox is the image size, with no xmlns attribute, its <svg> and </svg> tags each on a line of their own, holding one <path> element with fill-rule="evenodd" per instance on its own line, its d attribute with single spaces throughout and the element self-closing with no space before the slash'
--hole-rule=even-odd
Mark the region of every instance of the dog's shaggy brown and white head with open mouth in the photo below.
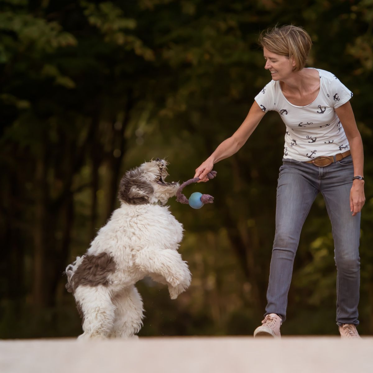
<svg viewBox="0 0 373 373">
<path fill-rule="evenodd" d="M 167 164 L 157 158 L 127 171 L 119 184 L 119 200 L 129 204 L 167 203 L 180 186 L 164 181 L 168 175 Z"/>
</svg>

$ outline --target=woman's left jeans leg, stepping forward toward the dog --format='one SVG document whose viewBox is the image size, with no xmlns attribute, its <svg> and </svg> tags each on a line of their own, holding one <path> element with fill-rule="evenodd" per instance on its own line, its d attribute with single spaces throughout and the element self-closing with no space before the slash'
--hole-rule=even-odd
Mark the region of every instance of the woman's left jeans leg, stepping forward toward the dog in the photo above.
<svg viewBox="0 0 373 373">
<path fill-rule="evenodd" d="M 284 162 L 280 167 L 276 202 L 276 233 L 270 264 L 266 313 L 286 319 L 288 291 L 295 253 L 305 218 L 318 193 L 318 167 Z"/>
</svg>

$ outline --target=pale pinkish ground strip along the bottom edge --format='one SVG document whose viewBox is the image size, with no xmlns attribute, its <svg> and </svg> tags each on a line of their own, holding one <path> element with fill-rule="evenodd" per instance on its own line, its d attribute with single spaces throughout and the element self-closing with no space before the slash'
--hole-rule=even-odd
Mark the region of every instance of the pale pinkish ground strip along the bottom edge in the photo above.
<svg viewBox="0 0 373 373">
<path fill-rule="evenodd" d="M 0 340 L 1 373 L 373 372 L 373 337 Z"/>
</svg>

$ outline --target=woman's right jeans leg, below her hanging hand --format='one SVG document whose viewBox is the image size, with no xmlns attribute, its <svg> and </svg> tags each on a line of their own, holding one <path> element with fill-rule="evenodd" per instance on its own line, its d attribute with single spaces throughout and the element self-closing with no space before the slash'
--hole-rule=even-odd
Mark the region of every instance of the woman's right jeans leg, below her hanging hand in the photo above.
<svg viewBox="0 0 373 373">
<path fill-rule="evenodd" d="M 349 159 L 351 157 L 348 157 Z M 360 288 L 360 213 L 352 216 L 350 190 L 354 168 L 344 159 L 327 167 L 322 183 L 327 211 L 332 223 L 334 260 L 337 267 L 337 324 L 358 325 Z"/>
</svg>

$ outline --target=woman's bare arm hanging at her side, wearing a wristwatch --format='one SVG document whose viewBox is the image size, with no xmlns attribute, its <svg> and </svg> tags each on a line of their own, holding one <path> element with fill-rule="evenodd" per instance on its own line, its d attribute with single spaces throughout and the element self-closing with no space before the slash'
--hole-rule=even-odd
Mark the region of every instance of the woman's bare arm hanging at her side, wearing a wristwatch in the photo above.
<svg viewBox="0 0 373 373">
<path fill-rule="evenodd" d="M 342 123 L 347 140 L 350 144 L 352 161 L 354 162 L 354 176 L 364 176 L 364 152 L 363 141 L 361 141 L 360 132 L 357 129 L 354 113 L 350 101 L 335 109 L 339 120 Z M 352 216 L 361 211 L 365 203 L 364 180 L 355 179 L 352 182 L 350 192 L 350 209 Z"/>
</svg>

